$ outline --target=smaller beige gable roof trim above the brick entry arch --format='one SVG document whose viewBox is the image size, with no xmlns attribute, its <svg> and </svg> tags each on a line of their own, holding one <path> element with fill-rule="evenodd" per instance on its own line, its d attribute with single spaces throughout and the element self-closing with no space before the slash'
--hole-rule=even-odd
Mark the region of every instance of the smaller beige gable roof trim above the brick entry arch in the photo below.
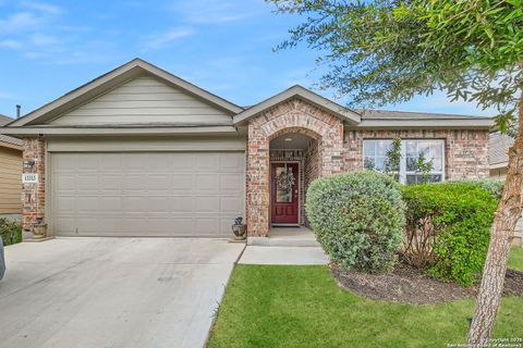
<svg viewBox="0 0 523 348">
<path fill-rule="evenodd" d="M 327 112 L 331 112 L 335 115 L 339 116 L 340 119 L 348 121 L 350 123 L 357 124 L 361 121 L 361 116 L 357 112 L 352 111 L 350 109 L 346 109 L 327 98 L 324 98 L 312 90 L 304 88 L 300 85 L 295 85 L 289 89 L 283 90 L 282 92 L 270 97 L 269 99 L 266 99 L 262 101 L 260 103 L 257 103 L 247 110 L 236 114 L 233 117 L 233 123 L 239 124 L 241 122 L 244 122 L 256 114 L 270 109 L 281 102 L 284 102 L 287 100 L 290 100 L 292 98 L 299 98 L 302 99 L 308 103 L 312 103 L 313 105 L 316 105 Z"/>
</svg>

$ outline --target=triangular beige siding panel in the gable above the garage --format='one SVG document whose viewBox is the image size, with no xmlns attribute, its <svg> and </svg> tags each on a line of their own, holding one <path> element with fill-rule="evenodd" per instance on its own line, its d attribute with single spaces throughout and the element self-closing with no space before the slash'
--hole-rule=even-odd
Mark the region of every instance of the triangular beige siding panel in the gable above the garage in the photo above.
<svg viewBox="0 0 523 348">
<path fill-rule="evenodd" d="M 51 121 L 52 125 L 232 124 L 227 112 L 153 77 L 138 77 Z"/>
</svg>

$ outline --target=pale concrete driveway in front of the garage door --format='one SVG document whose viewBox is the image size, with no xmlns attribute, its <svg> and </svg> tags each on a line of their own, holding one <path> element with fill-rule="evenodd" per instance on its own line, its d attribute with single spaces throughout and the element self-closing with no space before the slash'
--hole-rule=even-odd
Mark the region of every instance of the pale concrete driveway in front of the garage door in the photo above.
<svg viewBox="0 0 523 348">
<path fill-rule="evenodd" d="M 242 249 L 168 238 L 7 247 L 0 347 L 202 347 Z"/>
</svg>

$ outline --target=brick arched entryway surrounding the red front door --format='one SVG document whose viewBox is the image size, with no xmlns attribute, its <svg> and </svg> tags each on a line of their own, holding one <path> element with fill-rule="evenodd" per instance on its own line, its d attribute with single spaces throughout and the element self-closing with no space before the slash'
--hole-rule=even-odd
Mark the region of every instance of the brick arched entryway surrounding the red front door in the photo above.
<svg viewBox="0 0 523 348">
<path fill-rule="evenodd" d="M 275 223 L 272 217 L 276 211 L 272 204 L 283 203 L 285 208 L 285 200 L 292 200 L 291 198 L 294 199 L 292 202 L 299 204 L 297 221 L 288 219 L 276 223 L 306 224 L 304 214 L 306 186 L 318 176 L 342 171 L 342 121 L 339 117 L 299 98 L 260 112 L 248 121 L 246 189 L 248 236 L 267 237 L 270 225 Z M 295 149 L 292 149 L 293 141 Z M 278 163 L 288 165 L 282 166 Z M 278 201 L 276 175 L 289 172 L 289 167 L 292 167 L 292 171 L 297 170 L 295 174 L 299 186 L 292 187 L 299 190 L 297 197 L 290 198 L 289 192 L 282 191 Z M 292 215 L 292 207 L 289 211 Z"/>
</svg>

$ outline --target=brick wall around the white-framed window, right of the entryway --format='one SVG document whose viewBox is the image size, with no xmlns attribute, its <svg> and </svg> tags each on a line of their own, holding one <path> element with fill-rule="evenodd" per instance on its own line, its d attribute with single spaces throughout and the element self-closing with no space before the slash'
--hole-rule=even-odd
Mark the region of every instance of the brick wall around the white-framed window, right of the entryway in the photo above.
<svg viewBox="0 0 523 348">
<path fill-rule="evenodd" d="M 344 132 L 345 171 L 363 169 L 363 140 L 390 139 L 445 140 L 446 179 L 484 178 L 489 175 L 488 130 L 354 130 Z"/>
</svg>

